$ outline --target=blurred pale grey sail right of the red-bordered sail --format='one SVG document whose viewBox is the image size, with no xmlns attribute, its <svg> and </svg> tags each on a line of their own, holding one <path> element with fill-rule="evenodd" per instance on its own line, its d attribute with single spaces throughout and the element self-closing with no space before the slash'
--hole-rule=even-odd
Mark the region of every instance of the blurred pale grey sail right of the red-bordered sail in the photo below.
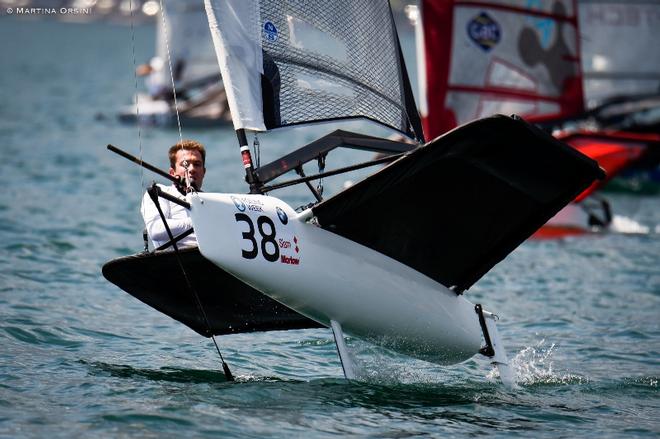
<svg viewBox="0 0 660 439">
<path fill-rule="evenodd" d="M 589 107 L 616 95 L 660 92 L 660 1 L 580 0 L 584 92 Z"/>
</svg>

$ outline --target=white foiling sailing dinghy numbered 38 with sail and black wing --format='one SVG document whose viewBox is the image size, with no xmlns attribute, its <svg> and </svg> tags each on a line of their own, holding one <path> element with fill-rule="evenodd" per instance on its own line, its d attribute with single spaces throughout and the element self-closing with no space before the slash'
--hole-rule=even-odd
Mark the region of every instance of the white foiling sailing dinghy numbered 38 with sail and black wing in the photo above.
<svg viewBox="0 0 660 439">
<path fill-rule="evenodd" d="M 602 178 L 597 163 L 517 117 L 424 143 L 385 0 L 206 0 L 206 10 L 250 193 L 187 195 L 201 254 L 332 328 L 348 378 L 344 334 L 438 364 L 482 353 L 512 383 L 495 316 L 463 293 Z M 418 146 L 340 131 L 254 166 L 248 132 L 352 118 Z M 325 171 L 337 147 L 390 155 Z M 319 174 L 304 175 L 310 161 Z M 308 184 L 387 162 L 327 199 Z M 269 184 L 289 171 L 300 178 Z M 271 195 L 294 184 L 308 184 L 311 207 Z"/>
</svg>

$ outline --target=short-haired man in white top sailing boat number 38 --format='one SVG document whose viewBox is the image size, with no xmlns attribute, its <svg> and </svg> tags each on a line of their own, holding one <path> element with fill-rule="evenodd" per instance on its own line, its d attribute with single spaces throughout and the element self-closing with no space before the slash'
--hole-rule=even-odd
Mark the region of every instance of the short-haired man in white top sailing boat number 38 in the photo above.
<svg viewBox="0 0 660 439">
<path fill-rule="evenodd" d="M 201 190 L 202 182 L 204 181 L 204 174 L 206 173 L 205 160 L 206 150 L 204 145 L 194 140 L 183 140 L 176 145 L 173 145 L 169 150 L 170 158 L 170 175 L 173 177 L 180 177 L 184 185 L 165 186 L 159 184 L 158 186 L 163 192 L 172 196 L 185 200 L 185 192 L 193 189 Z M 188 182 L 189 186 L 186 184 Z M 163 215 L 167 220 L 172 235 L 176 238 L 181 233 L 186 232 L 192 228 L 192 221 L 190 219 L 189 211 L 183 206 L 180 206 L 172 201 L 166 200 L 162 197 L 158 198 L 158 203 Z M 163 224 L 163 220 L 158 213 L 158 208 L 151 199 L 148 193 L 144 194 L 142 198 L 142 218 L 147 230 L 147 234 L 151 239 L 154 248 L 169 241 L 169 235 Z M 177 242 L 178 247 L 191 247 L 197 246 L 197 238 L 192 233 L 181 241 Z M 170 248 L 171 249 L 171 248 Z"/>
</svg>

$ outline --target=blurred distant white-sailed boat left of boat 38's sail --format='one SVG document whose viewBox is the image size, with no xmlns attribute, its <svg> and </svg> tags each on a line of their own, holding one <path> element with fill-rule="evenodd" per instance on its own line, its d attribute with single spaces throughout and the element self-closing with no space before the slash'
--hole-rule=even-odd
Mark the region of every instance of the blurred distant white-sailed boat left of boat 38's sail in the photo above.
<svg viewBox="0 0 660 439">
<path fill-rule="evenodd" d="M 177 123 L 186 127 L 229 124 L 226 94 L 203 3 L 169 0 L 161 5 L 163 10 L 156 20 L 156 54 L 138 68 L 142 71 L 138 74 L 147 75 L 148 93 L 136 94 L 135 103 L 119 112 L 119 120 L 162 127 L 175 127 Z"/>
</svg>

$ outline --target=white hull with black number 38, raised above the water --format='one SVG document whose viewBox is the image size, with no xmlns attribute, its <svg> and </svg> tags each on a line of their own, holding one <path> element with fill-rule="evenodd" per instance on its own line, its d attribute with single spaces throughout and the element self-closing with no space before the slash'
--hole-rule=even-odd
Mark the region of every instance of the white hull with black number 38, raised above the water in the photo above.
<svg viewBox="0 0 660 439">
<path fill-rule="evenodd" d="M 299 313 L 438 364 L 478 353 L 474 305 L 416 270 L 307 222 L 274 197 L 190 198 L 202 254 Z"/>
</svg>

